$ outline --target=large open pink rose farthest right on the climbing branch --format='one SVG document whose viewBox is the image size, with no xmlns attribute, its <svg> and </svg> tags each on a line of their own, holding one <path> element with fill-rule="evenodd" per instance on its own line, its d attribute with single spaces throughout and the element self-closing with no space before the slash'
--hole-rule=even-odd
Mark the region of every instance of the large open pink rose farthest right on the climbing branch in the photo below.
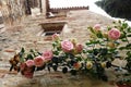
<svg viewBox="0 0 131 87">
<path fill-rule="evenodd" d="M 111 28 L 111 29 L 108 32 L 108 37 L 109 37 L 110 39 L 114 39 L 114 40 L 119 39 L 119 37 L 120 37 L 120 30 L 117 29 L 117 28 Z"/>
</svg>

